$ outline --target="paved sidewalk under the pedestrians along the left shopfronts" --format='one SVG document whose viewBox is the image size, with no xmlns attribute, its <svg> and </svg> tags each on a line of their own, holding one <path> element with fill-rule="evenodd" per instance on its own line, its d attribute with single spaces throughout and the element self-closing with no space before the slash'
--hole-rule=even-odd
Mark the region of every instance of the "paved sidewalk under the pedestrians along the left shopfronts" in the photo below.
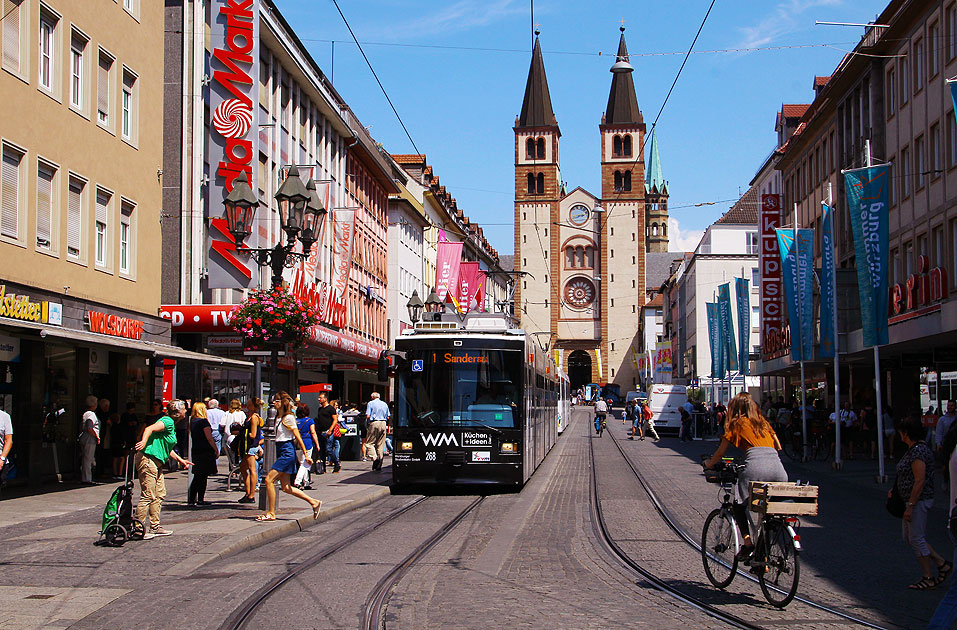
<svg viewBox="0 0 957 630">
<path fill-rule="evenodd" d="M 370 462 L 343 462 L 339 473 L 327 472 L 312 476 L 313 490 L 306 491 L 322 501 L 318 520 L 302 500 L 278 492 L 277 520 L 259 523 L 258 503 L 242 504 L 237 484 L 226 490 L 225 457 L 220 458 L 220 474 L 209 479 L 206 500 L 212 505 L 186 505 L 186 471 L 166 475 L 167 497 L 163 502 L 162 524 L 173 534 L 148 541 L 130 541 L 124 550 L 135 548 L 137 555 L 151 548 L 162 548 L 156 554 L 156 568 L 163 575 L 187 575 L 220 558 L 254 549 L 271 540 L 297 533 L 345 512 L 368 505 L 389 494 L 391 458 L 386 458 L 381 472 L 373 472 Z M 96 486 L 61 484 L 46 486 L 33 494 L 0 499 L 0 557 L 16 561 L 28 553 L 56 553 L 88 548 L 90 556 L 115 552 L 115 549 L 94 547 L 98 538 L 104 506 L 122 481 L 104 482 Z M 139 499 L 135 483 L 134 508 Z M 278 487 L 277 487 L 278 491 Z M 9 495 L 8 495 L 9 496 Z M 172 552 L 172 553 L 171 553 Z M 84 554 L 87 555 L 87 554 Z"/>
</svg>

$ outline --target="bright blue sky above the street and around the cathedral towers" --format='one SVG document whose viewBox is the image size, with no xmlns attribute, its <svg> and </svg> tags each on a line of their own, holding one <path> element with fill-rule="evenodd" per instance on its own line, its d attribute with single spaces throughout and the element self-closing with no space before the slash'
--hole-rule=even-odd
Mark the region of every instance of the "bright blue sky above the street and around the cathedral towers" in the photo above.
<svg viewBox="0 0 957 630">
<path fill-rule="evenodd" d="M 391 153 L 416 149 L 392 113 L 331 0 L 276 0 L 362 123 Z M 863 34 L 815 20 L 868 22 L 887 0 L 719 0 L 658 121 L 671 189 L 672 249 L 743 194 L 774 148 L 782 103 L 806 103 Z M 618 27 L 635 66 L 648 129 L 710 0 L 538 0 L 535 22 L 562 131 L 562 178 L 600 193 L 598 124 Z M 530 0 L 339 0 L 418 152 L 501 254 L 512 253 L 514 139 L 531 55 Z M 335 40 L 335 63 L 332 62 Z M 786 47 L 786 48 L 785 48 Z M 661 54 L 677 53 L 677 54 Z M 718 202 L 713 205 L 694 204 Z M 677 247 L 676 247 L 677 246 Z"/>
</svg>

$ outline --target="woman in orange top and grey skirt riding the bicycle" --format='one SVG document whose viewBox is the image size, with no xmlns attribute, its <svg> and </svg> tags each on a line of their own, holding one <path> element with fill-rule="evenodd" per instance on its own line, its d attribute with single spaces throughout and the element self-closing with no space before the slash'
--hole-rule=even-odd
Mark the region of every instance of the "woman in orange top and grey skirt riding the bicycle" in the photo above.
<svg viewBox="0 0 957 630">
<path fill-rule="evenodd" d="M 705 468 L 714 468 L 724 456 L 729 446 L 744 451 L 746 468 L 738 477 L 736 502 L 733 507 L 734 519 L 744 537 L 741 555 L 747 556 L 754 550 L 748 523 L 747 503 L 751 481 L 787 481 L 788 474 L 781 464 L 778 451 L 781 442 L 771 428 L 771 424 L 761 415 L 758 405 L 751 394 L 741 392 L 728 403 L 728 420 L 718 450 L 704 462 Z"/>
</svg>

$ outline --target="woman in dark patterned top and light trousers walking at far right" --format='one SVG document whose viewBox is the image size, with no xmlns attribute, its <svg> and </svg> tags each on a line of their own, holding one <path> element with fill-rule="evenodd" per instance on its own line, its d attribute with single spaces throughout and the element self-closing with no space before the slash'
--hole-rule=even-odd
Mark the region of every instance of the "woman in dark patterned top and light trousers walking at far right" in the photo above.
<svg viewBox="0 0 957 630">
<path fill-rule="evenodd" d="M 901 521 L 904 542 L 914 551 L 921 568 L 921 578 L 907 588 L 922 591 L 943 582 L 954 565 L 945 560 L 927 542 L 927 514 L 934 505 L 934 453 L 924 442 L 924 426 L 920 418 L 908 416 L 898 428 L 907 452 L 897 462 L 897 491 L 907 504 Z M 887 496 L 891 496 L 888 491 Z M 933 571 L 936 565 L 937 575 Z"/>
</svg>

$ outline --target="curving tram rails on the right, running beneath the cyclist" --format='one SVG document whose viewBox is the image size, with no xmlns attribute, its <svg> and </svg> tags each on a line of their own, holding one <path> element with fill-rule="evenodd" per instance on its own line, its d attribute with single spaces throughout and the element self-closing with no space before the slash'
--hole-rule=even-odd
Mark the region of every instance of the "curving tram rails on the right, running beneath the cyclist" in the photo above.
<svg viewBox="0 0 957 630">
<path fill-rule="evenodd" d="M 689 547 L 691 547 L 692 549 L 694 549 L 695 552 L 697 552 L 697 553 L 700 554 L 700 553 L 701 553 L 701 545 L 700 545 L 700 543 L 695 539 L 694 536 L 692 536 L 691 534 L 689 534 L 687 531 L 685 531 L 685 530 L 678 524 L 677 519 L 670 513 L 670 511 L 668 510 L 668 508 L 667 508 L 667 507 L 664 505 L 664 503 L 661 501 L 661 498 L 655 493 L 655 491 L 654 491 L 647 483 L 645 483 L 644 479 L 641 478 L 641 474 L 638 472 L 638 469 L 636 468 L 634 462 L 631 460 L 631 458 L 628 456 L 628 454 L 627 454 L 627 453 L 625 452 L 625 450 L 622 448 L 621 444 L 620 444 L 619 441 L 618 441 L 618 438 L 616 438 L 616 437 L 614 436 L 613 432 L 607 431 L 607 433 L 608 433 L 608 435 L 612 438 L 612 442 L 614 443 L 614 445 L 615 445 L 615 447 L 617 448 L 618 452 L 621 454 L 621 456 L 622 456 L 622 458 L 624 459 L 625 463 L 628 465 L 628 468 L 632 471 L 632 473 L 634 473 L 635 479 L 638 481 L 638 484 L 641 486 L 641 488 L 645 491 L 645 494 L 648 496 L 648 499 L 651 501 L 652 505 L 653 505 L 654 508 L 655 508 L 655 511 L 656 511 L 656 512 L 658 513 L 658 515 L 661 517 L 662 521 L 663 521 L 663 522 L 668 526 L 668 528 L 671 529 L 684 543 L 686 543 Z M 649 577 L 649 576 L 647 576 L 647 575 L 645 574 L 646 569 L 644 569 L 644 568 L 638 569 L 638 568 L 634 567 L 633 565 L 634 565 L 634 564 L 637 564 L 637 563 L 635 563 L 635 561 L 634 561 L 632 558 L 630 558 L 630 557 L 627 555 L 626 552 L 624 552 L 623 550 L 621 550 L 620 547 L 617 545 L 617 543 L 615 543 L 614 540 L 612 540 L 612 539 L 610 538 L 610 536 L 609 536 L 609 534 L 608 534 L 608 532 L 607 532 L 607 530 L 606 530 L 606 524 L 605 524 L 604 520 L 601 518 L 601 512 L 600 512 L 600 509 L 601 509 L 601 508 L 600 508 L 600 502 L 599 502 L 599 500 L 598 500 L 598 497 L 599 497 L 599 495 L 598 495 L 598 475 L 597 475 L 597 471 L 596 471 L 595 468 L 594 468 L 594 463 L 595 463 L 595 462 L 594 462 L 594 457 L 595 457 L 595 454 L 594 454 L 594 445 L 593 445 L 593 444 L 592 444 L 592 446 L 591 446 L 591 457 L 592 457 L 592 476 L 593 476 L 593 492 L 594 492 L 594 501 L 593 501 L 593 503 L 594 503 L 594 505 L 595 505 L 595 507 L 593 508 L 593 510 L 597 510 L 597 513 L 598 513 L 597 515 L 598 515 L 598 518 L 599 518 L 599 521 L 600 521 L 599 524 L 598 524 L 598 527 L 601 529 L 601 531 L 600 531 L 601 537 L 606 540 L 606 543 L 609 545 L 610 548 L 612 548 L 613 553 L 614 553 L 616 556 L 619 556 L 623 562 L 625 562 L 625 563 L 628 564 L 629 566 L 632 566 L 633 568 L 635 568 L 635 569 L 636 569 L 637 571 L 639 571 L 643 576 L 645 576 L 646 579 L 651 580 L 651 581 L 657 586 L 657 585 L 658 585 L 658 582 L 662 582 L 662 580 L 660 580 L 660 578 L 658 578 L 657 576 L 655 576 L 655 577 Z M 744 578 L 745 580 L 748 580 L 749 582 L 752 582 L 752 583 L 754 583 L 754 584 L 758 584 L 758 583 L 759 583 L 758 579 L 757 579 L 755 576 L 752 576 L 752 575 L 750 575 L 750 574 L 748 574 L 748 573 L 739 572 L 738 575 L 741 576 L 742 578 Z M 668 586 L 669 586 L 669 588 L 673 588 L 673 587 L 671 587 L 670 585 L 668 585 Z M 682 595 L 682 598 L 683 598 L 683 597 L 686 597 L 686 596 Z M 694 598 L 690 598 L 690 599 L 694 599 Z M 852 614 L 849 614 L 849 613 L 846 613 L 846 612 L 844 612 L 844 611 L 841 611 L 841 610 L 832 608 L 832 607 L 830 607 L 830 606 L 827 606 L 826 604 L 823 604 L 823 603 L 820 603 L 820 602 L 817 602 L 817 601 L 814 601 L 814 600 L 811 600 L 811 599 L 808 599 L 808 598 L 805 598 L 805 597 L 796 596 L 796 597 L 794 598 L 794 601 L 795 601 L 795 602 L 799 602 L 799 603 L 801 603 L 801 604 L 804 604 L 804 605 L 806 605 L 806 606 L 809 606 L 809 607 L 811 607 L 811 608 L 813 608 L 813 609 L 815 609 L 815 610 L 818 610 L 818 611 L 827 613 L 827 614 L 829 614 L 829 615 L 833 615 L 833 616 L 835 616 L 835 617 L 838 617 L 838 618 L 840 618 L 841 620 L 843 620 L 843 622 L 845 622 L 845 623 L 851 623 L 851 624 L 855 624 L 855 625 L 860 625 L 860 626 L 863 626 L 863 627 L 866 627 L 866 628 L 872 628 L 872 629 L 874 629 L 874 630 L 887 630 L 887 629 L 885 628 L 885 626 L 881 626 L 881 625 L 876 624 L 876 623 L 874 623 L 874 622 L 872 622 L 872 621 L 868 621 L 867 619 L 862 619 L 862 618 L 860 618 L 860 617 L 856 617 L 856 616 L 854 616 L 854 615 L 852 615 Z M 702 610 L 704 610 L 704 611 L 707 612 L 708 614 L 712 614 L 712 611 L 713 611 L 714 613 L 716 613 L 714 616 L 718 617 L 719 619 L 727 620 L 728 623 L 731 623 L 732 625 L 736 625 L 736 627 L 744 627 L 744 628 L 762 628 L 762 627 L 763 627 L 763 626 L 760 626 L 760 625 L 755 625 L 755 624 L 753 624 L 752 622 L 749 622 L 749 621 L 746 621 L 746 620 L 744 620 L 744 619 L 741 619 L 740 617 L 737 617 L 737 616 L 735 616 L 735 615 L 729 615 L 729 613 L 727 613 L 726 611 L 722 611 L 722 610 L 720 610 L 720 609 L 718 609 L 718 608 L 716 608 L 715 606 L 712 606 L 712 605 L 710 605 L 710 604 L 707 604 L 707 603 L 704 603 L 704 602 L 698 602 L 698 604 L 700 604 L 700 606 L 702 607 Z M 695 605 L 695 604 L 692 604 L 692 605 Z M 728 616 L 728 618 L 726 619 L 725 616 Z M 744 624 L 744 625 L 737 625 L 737 624 L 739 624 L 739 623 Z M 777 624 L 775 624 L 775 625 L 777 625 Z"/>
</svg>

